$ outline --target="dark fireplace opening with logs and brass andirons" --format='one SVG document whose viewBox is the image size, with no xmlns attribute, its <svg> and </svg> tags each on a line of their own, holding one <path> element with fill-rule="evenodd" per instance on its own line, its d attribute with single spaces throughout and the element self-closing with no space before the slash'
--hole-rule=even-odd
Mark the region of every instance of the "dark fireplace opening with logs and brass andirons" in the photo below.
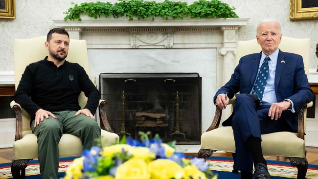
<svg viewBox="0 0 318 179">
<path fill-rule="evenodd" d="M 138 131 L 163 141 L 200 144 L 201 88 L 198 73 L 102 73 L 101 99 L 115 133 L 138 138 Z"/>
</svg>

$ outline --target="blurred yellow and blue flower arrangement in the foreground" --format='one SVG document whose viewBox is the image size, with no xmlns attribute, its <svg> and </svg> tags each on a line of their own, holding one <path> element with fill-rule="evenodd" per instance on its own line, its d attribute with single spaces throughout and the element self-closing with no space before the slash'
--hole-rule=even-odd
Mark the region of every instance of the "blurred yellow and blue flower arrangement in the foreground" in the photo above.
<svg viewBox="0 0 318 179">
<path fill-rule="evenodd" d="M 187 160 L 175 141 L 162 143 L 157 134 L 142 141 L 122 137 L 119 144 L 84 150 L 68 167 L 64 179 L 217 179 L 204 158 Z"/>
</svg>

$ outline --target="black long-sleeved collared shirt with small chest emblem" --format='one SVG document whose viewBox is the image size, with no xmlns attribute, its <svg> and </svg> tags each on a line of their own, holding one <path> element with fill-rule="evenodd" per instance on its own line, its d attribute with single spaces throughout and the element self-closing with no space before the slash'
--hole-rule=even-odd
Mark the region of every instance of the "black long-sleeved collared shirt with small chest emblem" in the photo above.
<svg viewBox="0 0 318 179">
<path fill-rule="evenodd" d="M 25 68 L 14 101 L 34 119 L 40 108 L 49 112 L 80 110 L 78 96 L 81 91 L 88 97 L 85 108 L 94 115 L 100 93 L 84 68 L 67 61 L 56 67 L 45 57 Z"/>
</svg>

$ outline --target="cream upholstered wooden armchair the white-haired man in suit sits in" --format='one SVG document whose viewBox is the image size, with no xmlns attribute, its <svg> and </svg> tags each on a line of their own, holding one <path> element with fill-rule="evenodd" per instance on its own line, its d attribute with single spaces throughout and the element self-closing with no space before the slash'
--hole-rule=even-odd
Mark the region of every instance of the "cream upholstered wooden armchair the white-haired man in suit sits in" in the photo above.
<svg viewBox="0 0 318 179">
<path fill-rule="evenodd" d="M 309 71 L 309 39 L 295 39 L 282 37 L 279 48 L 282 51 L 299 54 L 303 57 L 305 72 Z M 239 41 L 237 48 L 236 64 L 239 59 L 251 53 L 261 51 L 256 40 Z M 229 104 L 233 104 L 231 99 Z M 266 156 L 288 157 L 293 166 L 298 169 L 297 179 L 304 179 L 307 173 L 308 161 L 306 159 L 305 136 L 306 108 L 311 107 L 312 102 L 305 104 L 298 114 L 298 133 L 278 132 L 262 135 L 262 151 Z M 210 157 L 215 151 L 235 153 L 235 143 L 232 127 L 219 127 L 222 110 L 216 107 L 216 112 L 211 126 L 201 135 L 201 149 L 198 157 Z"/>
</svg>

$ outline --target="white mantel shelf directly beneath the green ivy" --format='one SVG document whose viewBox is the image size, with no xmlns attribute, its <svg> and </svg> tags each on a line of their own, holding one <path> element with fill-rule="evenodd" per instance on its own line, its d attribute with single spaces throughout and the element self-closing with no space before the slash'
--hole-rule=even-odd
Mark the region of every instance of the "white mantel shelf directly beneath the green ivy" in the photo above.
<svg viewBox="0 0 318 179">
<path fill-rule="evenodd" d="M 100 18 L 92 19 L 88 16 L 82 17 L 82 21 L 64 21 L 53 20 L 56 26 L 59 27 L 221 27 L 234 26 L 241 27 L 248 23 L 250 18 L 227 18 L 227 19 L 183 19 L 183 20 L 163 20 L 143 19 L 129 21 L 127 17 Z"/>
</svg>

